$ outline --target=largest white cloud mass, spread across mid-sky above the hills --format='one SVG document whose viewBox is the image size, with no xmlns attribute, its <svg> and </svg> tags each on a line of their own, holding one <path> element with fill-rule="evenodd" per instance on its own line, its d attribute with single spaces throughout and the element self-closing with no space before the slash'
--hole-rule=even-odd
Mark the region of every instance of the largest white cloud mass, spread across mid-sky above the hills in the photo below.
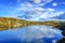
<svg viewBox="0 0 65 43">
<path fill-rule="evenodd" d="M 41 6 L 35 6 L 35 8 L 34 6 L 35 6 L 34 4 L 30 4 L 30 6 L 23 4 L 18 9 L 16 9 L 16 11 L 18 12 L 22 11 L 23 13 L 25 13 L 22 15 L 28 15 L 29 20 L 39 20 L 40 18 L 48 19 L 64 13 L 64 12 L 55 12 L 55 9 L 52 9 L 52 8 L 43 9 Z"/>
</svg>

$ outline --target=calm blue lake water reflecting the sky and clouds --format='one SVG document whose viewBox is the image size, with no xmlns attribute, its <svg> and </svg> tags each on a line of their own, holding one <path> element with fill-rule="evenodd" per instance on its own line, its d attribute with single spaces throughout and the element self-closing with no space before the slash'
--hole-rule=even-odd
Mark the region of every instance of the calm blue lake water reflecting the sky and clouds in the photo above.
<svg viewBox="0 0 65 43">
<path fill-rule="evenodd" d="M 27 26 L 0 31 L 0 42 L 10 43 L 54 43 L 63 35 L 61 30 L 49 26 Z"/>
</svg>

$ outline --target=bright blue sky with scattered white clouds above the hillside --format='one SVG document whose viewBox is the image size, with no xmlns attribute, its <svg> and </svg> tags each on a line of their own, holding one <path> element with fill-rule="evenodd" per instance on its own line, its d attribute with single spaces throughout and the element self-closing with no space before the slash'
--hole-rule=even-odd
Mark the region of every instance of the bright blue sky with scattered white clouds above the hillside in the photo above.
<svg viewBox="0 0 65 43">
<path fill-rule="evenodd" d="M 65 19 L 61 15 L 65 16 L 65 0 L 0 0 L 2 17 L 29 20 Z"/>
</svg>

